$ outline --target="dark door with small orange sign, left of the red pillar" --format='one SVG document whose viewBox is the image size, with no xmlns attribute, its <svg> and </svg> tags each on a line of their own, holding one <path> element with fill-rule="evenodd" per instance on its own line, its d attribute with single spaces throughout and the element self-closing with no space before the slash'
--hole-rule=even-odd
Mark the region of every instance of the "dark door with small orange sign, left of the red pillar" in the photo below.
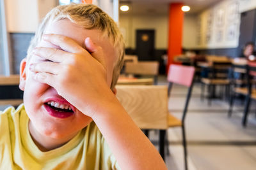
<svg viewBox="0 0 256 170">
<path fill-rule="evenodd" d="M 154 30 L 136 30 L 136 52 L 139 60 L 154 60 Z"/>
</svg>

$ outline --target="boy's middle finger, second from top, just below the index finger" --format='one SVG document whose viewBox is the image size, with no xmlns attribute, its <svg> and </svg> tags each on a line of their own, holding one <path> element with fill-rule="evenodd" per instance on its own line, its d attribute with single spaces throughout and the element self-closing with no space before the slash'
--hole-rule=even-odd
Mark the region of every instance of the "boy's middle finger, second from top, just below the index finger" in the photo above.
<svg viewBox="0 0 256 170">
<path fill-rule="evenodd" d="M 63 62 L 65 55 L 67 56 L 69 53 L 57 48 L 47 48 L 47 47 L 36 47 L 33 50 L 33 55 L 38 55 L 47 60 L 51 60 L 53 62 Z"/>
</svg>

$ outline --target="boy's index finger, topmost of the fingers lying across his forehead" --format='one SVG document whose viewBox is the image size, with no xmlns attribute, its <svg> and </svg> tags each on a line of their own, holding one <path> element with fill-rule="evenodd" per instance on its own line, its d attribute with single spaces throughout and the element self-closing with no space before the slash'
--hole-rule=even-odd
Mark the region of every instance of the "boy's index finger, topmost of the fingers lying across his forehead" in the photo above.
<svg viewBox="0 0 256 170">
<path fill-rule="evenodd" d="M 54 45 L 60 46 L 61 49 L 70 53 L 82 52 L 84 50 L 83 47 L 76 43 L 76 41 L 68 38 L 67 36 L 60 34 L 44 34 L 42 38 L 45 41 L 49 41 Z"/>
</svg>

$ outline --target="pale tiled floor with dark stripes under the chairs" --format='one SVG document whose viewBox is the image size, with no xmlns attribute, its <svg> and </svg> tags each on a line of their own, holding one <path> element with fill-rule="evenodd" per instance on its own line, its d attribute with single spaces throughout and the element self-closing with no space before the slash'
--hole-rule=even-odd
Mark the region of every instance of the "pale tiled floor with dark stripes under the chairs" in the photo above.
<svg viewBox="0 0 256 170">
<path fill-rule="evenodd" d="M 164 77 L 159 78 L 159 83 L 166 84 Z M 185 99 L 186 88 L 174 86 L 168 103 L 173 115 L 182 115 Z M 255 108 L 255 102 L 252 105 Z M 241 103 L 237 102 L 231 118 L 227 117 L 227 110 L 228 101 L 214 100 L 211 106 L 206 100 L 200 101 L 200 85 L 195 84 L 186 117 L 189 170 L 256 169 L 255 114 L 250 114 L 248 127 L 243 128 Z M 168 169 L 184 169 L 181 130 L 168 129 L 168 141 Z"/>
</svg>

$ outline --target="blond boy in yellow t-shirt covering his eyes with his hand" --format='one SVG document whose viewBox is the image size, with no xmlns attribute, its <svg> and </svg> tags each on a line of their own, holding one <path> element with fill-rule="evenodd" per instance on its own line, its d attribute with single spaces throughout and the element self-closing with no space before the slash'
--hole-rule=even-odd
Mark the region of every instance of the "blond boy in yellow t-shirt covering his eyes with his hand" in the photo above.
<svg viewBox="0 0 256 170">
<path fill-rule="evenodd" d="M 166 169 L 115 97 L 123 56 L 97 6 L 50 11 L 20 64 L 24 105 L 0 114 L 0 169 Z"/>
</svg>

